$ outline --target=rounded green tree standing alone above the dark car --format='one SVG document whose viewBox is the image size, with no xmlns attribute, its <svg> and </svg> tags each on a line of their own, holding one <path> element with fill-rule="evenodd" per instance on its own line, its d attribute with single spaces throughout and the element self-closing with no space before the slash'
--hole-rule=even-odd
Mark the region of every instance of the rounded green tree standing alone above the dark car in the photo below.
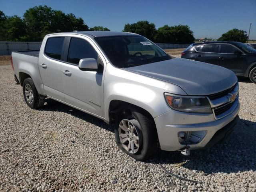
<svg viewBox="0 0 256 192">
<path fill-rule="evenodd" d="M 246 34 L 246 31 L 238 30 L 234 28 L 222 34 L 222 36 L 218 40 L 219 41 L 238 41 L 238 42 L 245 43 L 247 39 L 248 39 L 248 36 Z"/>
</svg>

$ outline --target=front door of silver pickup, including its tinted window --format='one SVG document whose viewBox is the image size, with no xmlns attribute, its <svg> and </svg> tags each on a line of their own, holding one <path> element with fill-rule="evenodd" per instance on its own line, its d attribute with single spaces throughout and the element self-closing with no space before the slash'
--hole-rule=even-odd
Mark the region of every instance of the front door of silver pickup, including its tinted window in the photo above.
<svg viewBox="0 0 256 192">
<path fill-rule="evenodd" d="M 62 82 L 65 102 L 85 110 L 86 112 L 104 117 L 103 73 L 81 71 L 78 68 L 80 59 L 95 58 L 96 52 L 92 42 L 82 38 L 70 38 L 70 44 L 62 63 Z"/>
</svg>

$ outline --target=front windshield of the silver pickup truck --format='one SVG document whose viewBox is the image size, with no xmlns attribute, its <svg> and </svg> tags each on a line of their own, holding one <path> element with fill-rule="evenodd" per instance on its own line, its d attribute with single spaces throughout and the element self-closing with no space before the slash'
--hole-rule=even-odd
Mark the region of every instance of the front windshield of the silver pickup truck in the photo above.
<svg viewBox="0 0 256 192">
<path fill-rule="evenodd" d="M 125 68 L 171 59 L 142 36 L 96 37 L 95 40 L 116 67 Z"/>
</svg>

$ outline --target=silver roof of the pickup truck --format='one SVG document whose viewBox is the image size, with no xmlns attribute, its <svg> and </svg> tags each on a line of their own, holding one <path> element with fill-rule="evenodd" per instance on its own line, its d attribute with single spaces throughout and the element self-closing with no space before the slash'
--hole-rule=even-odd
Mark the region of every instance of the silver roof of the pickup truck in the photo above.
<svg viewBox="0 0 256 192">
<path fill-rule="evenodd" d="M 63 32 L 54 34 L 79 34 L 79 35 L 91 35 L 94 37 L 104 37 L 104 36 L 120 36 L 120 35 L 138 35 L 129 32 L 114 32 L 114 31 L 73 31 L 73 32 Z M 52 34 L 49 34 L 52 35 Z"/>
</svg>

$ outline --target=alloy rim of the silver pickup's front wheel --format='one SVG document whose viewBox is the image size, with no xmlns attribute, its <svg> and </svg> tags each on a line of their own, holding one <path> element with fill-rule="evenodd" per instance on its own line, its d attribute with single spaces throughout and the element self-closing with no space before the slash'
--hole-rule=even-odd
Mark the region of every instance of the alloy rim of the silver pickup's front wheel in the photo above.
<svg viewBox="0 0 256 192">
<path fill-rule="evenodd" d="M 140 139 L 137 128 L 132 121 L 136 120 L 123 119 L 119 124 L 118 134 L 123 148 L 134 154 L 139 150 Z"/>
</svg>

